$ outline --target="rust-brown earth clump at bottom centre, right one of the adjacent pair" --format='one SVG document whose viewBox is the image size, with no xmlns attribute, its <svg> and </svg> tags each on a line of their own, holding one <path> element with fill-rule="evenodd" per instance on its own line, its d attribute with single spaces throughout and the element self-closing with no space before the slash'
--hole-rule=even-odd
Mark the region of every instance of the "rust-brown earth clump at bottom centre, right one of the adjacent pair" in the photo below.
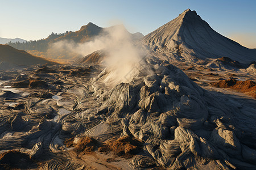
<svg viewBox="0 0 256 170">
<path fill-rule="evenodd" d="M 133 137 L 125 136 L 114 141 L 110 148 L 119 156 L 131 158 L 141 150 L 142 142 Z"/>
</svg>

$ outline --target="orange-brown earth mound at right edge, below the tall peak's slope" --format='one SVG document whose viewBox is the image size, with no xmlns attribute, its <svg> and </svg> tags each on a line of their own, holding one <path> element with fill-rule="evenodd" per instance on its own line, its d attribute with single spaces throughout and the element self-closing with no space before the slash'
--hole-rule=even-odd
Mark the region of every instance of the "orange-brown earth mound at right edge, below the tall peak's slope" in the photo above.
<svg viewBox="0 0 256 170">
<path fill-rule="evenodd" d="M 239 92 L 246 93 L 256 99 L 256 83 L 252 80 L 239 81 L 236 79 L 220 80 L 212 84 L 213 87 L 232 88 Z"/>
</svg>

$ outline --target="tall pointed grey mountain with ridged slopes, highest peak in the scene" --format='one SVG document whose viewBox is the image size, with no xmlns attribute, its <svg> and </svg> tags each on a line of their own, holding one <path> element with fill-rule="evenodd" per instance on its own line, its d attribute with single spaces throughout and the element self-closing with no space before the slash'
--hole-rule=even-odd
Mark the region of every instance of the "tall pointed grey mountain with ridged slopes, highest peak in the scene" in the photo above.
<svg viewBox="0 0 256 170">
<path fill-rule="evenodd" d="M 220 35 L 196 11 L 189 9 L 144 36 L 141 43 L 147 49 L 172 53 L 187 61 L 220 57 L 240 62 L 256 60 L 256 49 L 248 49 Z"/>
</svg>

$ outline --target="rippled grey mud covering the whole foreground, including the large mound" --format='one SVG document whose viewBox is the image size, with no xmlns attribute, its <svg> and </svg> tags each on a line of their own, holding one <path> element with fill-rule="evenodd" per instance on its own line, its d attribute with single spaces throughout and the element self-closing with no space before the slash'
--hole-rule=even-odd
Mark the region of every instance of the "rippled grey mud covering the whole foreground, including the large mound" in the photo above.
<svg viewBox="0 0 256 170">
<path fill-rule="evenodd" d="M 150 72 L 138 70 L 114 86 L 103 83 L 112 73 L 97 66 L 2 72 L 0 163 L 23 168 L 10 157 L 32 169 L 254 169 L 255 101 L 204 90 L 158 62 L 149 59 Z M 46 86 L 32 86 L 37 80 Z M 246 91 L 253 82 L 218 84 Z"/>
</svg>

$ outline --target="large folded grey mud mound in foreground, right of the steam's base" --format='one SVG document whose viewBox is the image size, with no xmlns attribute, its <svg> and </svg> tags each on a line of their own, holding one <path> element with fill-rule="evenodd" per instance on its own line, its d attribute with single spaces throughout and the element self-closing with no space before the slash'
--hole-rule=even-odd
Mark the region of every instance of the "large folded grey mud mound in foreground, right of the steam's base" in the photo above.
<svg viewBox="0 0 256 170">
<path fill-rule="evenodd" d="M 118 84 L 105 98 L 108 109 L 102 110 L 113 112 L 108 120 L 125 117 L 123 135 L 141 139 L 144 154 L 163 167 L 253 167 L 255 158 L 241 153 L 253 156 L 255 145 L 246 146 L 252 140 L 234 121 L 247 112 L 214 99 L 175 66 L 153 68 L 155 74 Z"/>
</svg>

